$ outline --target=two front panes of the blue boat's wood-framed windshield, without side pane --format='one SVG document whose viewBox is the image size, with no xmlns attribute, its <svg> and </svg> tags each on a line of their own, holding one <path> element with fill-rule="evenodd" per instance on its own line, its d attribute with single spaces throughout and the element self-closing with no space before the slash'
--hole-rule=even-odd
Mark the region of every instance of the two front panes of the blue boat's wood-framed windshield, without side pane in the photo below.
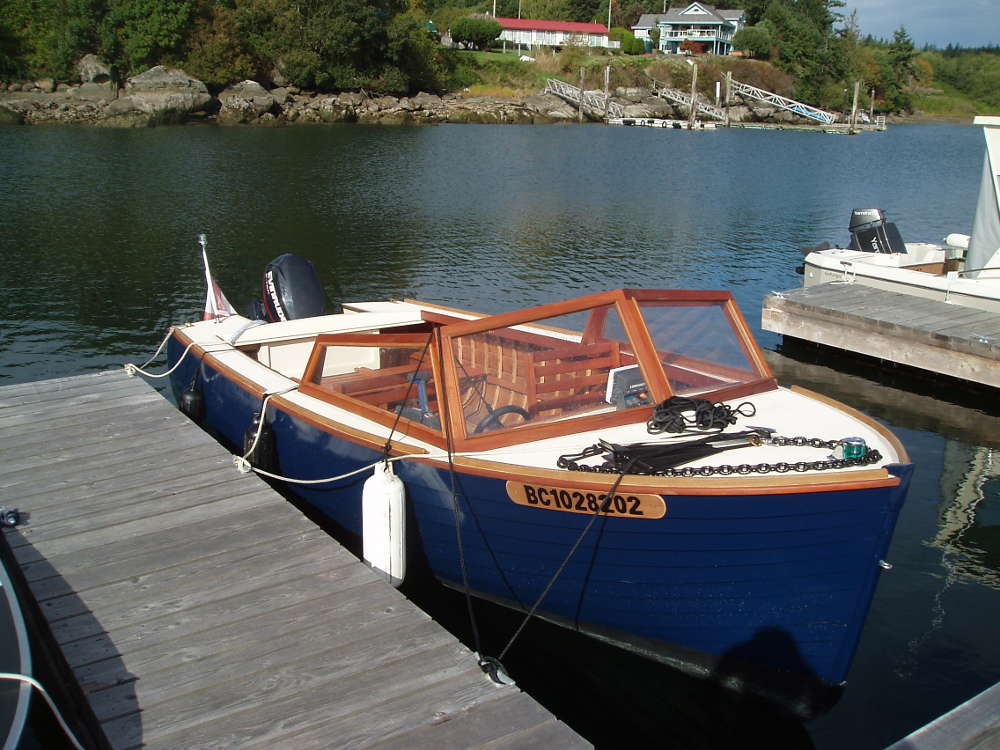
<svg viewBox="0 0 1000 750">
<path fill-rule="evenodd" d="M 619 290 L 531 313 L 443 329 L 465 437 L 570 419 L 565 430 L 585 429 L 576 418 L 602 414 L 600 424 L 624 424 L 669 396 L 713 398 L 770 380 L 724 292 Z"/>
</svg>

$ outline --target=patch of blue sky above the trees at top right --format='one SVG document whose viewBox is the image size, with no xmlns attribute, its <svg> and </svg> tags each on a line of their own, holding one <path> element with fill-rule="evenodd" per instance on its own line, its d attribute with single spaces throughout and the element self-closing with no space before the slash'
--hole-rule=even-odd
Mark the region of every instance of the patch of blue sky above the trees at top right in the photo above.
<svg viewBox="0 0 1000 750">
<path fill-rule="evenodd" d="M 918 48 L 1000 45 L 1000 0 L 846 0 L 840 12 L 852 10 L 862 35 L 891 40 L 902 26 Z"/>
</svg>

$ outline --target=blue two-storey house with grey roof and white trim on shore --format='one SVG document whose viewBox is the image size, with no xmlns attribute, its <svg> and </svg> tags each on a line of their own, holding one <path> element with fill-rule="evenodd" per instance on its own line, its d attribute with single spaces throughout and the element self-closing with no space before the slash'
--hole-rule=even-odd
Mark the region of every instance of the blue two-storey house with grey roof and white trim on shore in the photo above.
<svg viewBox="0 0 1000 750">
<path fill-rule="evenodd" d="M 733 51 L 733 36 L 745 25 L 746 11 L 718 10 L 693 2 L 686 8 L 670 8 L 666 13 L 644 13 L 632 27 L 632 33 L 640 39 L 649 39 L 649 31 L 659 29 L 657 49 L 662 52 L 680 52 L 681 44 L 689 41 L 702 45 L 704 52 L 728 55 Z"/>
</svg>

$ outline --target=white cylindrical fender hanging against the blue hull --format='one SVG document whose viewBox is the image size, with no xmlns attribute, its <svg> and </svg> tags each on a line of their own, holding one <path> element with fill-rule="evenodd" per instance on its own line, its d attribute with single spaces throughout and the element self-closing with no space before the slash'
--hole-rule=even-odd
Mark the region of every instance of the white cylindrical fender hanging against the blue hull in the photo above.
<svg viewBox="0 0 1000 750">
<path fill-rule="evenodd" d="M 362 554 L 393 586 L 406 576 L 406 491 L 383 461 L 361 492 Z"/>
</svg>

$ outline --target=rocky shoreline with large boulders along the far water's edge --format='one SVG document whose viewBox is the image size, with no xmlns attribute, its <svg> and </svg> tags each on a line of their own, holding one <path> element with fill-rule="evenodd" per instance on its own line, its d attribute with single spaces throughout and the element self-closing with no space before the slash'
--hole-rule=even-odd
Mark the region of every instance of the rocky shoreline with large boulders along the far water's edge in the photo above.
<svg viewBox="0 0 1000 750">
<path fill-rule="evenodd" d="M 576 108 L 551 94 L 523 99 L 470 97 L 462 93 L 412 97 L 369 96 L 346 92 L 323 94 L 295 86 L 267 89 L 243 81 L 212 96 L 204 83 L 181 70 L 157 66 L 116 89 L 99 61 L 81 61 L 79 83 L 51 79 L 0 86 L 0 124 L 73 124 L 94 127 L 150 127 L 187 122 L 219 125 L 277 126 L 293 123 L 510 123 L 573 122 Z M 685 119 L 687 110 L 653 96 L 646 89 L 618 89 L 613 101 L 625 117 Z M 599 119 L 599 113 L 586 113 Z M 734 122 L 795 123 L 790 112 L 771 107 L 731 107 Z"/>
</svg>

